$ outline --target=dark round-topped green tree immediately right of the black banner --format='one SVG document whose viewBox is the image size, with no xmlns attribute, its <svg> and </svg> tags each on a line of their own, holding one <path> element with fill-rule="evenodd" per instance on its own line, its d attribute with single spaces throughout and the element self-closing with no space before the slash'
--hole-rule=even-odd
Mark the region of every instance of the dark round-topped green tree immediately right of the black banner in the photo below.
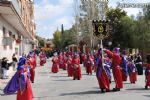
<svg viewBox="0 0 150 100">
<path fill-rule="evenodd" d="M 124 24 L 126 23 L 127 15 L 126 12 L 120 8 L 109 9 L 106 14 L 107 20 L 109 20 L 109 26 L 111 27 L 110 35 L 112 37 L 113 47 L 121 45 L 125 46 L 125 42 L 122 38 L 126 33 L 124 32 Z"/>
</svg>

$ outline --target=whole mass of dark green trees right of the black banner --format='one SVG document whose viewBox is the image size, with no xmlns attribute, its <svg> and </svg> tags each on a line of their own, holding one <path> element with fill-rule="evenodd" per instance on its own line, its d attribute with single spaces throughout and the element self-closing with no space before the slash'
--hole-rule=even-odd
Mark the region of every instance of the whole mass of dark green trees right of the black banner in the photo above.
<svg viewBox="0 0 150 100">
<path fill-rule="evenodd" d="M 112 27 L 113 47 L 118 44 L 123 48 L 143 49 L 145 44 L 146 48 L 150 47 L 150 10 L 145 8 L 143 12 L 144 16 L 139 13 L 136 20 L 119 8 L 107 12 Z"/>
</svg>

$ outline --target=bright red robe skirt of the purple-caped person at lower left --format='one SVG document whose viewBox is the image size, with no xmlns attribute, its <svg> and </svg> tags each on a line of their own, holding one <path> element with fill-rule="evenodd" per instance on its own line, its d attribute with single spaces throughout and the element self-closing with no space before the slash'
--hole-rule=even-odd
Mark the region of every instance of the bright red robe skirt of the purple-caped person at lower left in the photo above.
<svg viewBox="0 0 150 100">
<path fill-rule="evenodd" d="M 21 93 L 20 90 L 17 92 L 17 100 L 33 100 L 33 92 L 30 85 L 30 81 L 26 75 L 26 89 Z"/>
</svg>

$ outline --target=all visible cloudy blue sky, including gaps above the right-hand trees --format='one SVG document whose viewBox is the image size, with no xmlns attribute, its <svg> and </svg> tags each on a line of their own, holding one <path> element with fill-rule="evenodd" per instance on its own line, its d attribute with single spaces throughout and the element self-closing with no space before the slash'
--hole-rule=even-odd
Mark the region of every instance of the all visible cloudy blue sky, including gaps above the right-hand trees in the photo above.
<svg viewBox="0 0 150 100">
<path fill-rule="evenodd" d="M 143 3 L 149 0 L 109 0 L 109 7 L 116 7 L 118 1 Z M 53 38 L 53 33 L 64 24 L 65 29 L 74 23 L 73 0 L 34 0 L 36 32 L 44 38 Z M 141 9 L 126 8 L 128 15 L 136 15 Z"/>
</svg>

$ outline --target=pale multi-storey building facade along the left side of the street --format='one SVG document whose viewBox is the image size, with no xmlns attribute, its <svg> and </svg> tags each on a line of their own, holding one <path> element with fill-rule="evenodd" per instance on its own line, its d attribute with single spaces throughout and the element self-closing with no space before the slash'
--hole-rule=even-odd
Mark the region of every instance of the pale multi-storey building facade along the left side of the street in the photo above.
<svg viewBox="0 0 150 100">
<path fill-rule="evenodd" d="M 0 59 L 35 48 L 33 0 L 0 0 Z"/>
</svg>

